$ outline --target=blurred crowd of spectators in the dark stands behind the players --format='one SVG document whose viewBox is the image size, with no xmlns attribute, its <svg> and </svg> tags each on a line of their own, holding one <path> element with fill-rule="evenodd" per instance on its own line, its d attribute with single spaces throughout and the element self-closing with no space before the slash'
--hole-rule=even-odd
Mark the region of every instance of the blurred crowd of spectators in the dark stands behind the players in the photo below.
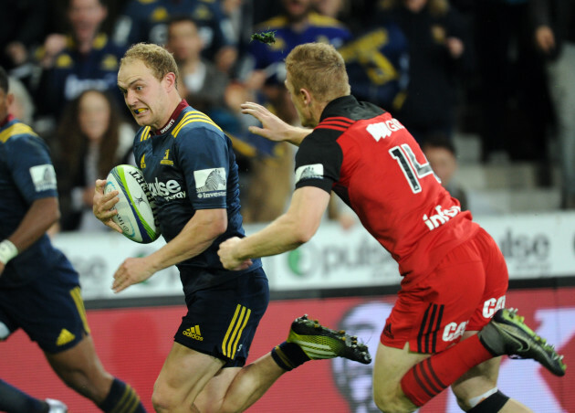
<svg viewBox="0 0 575 413">
<path fill-rule="evenodd" d="M 256 101 L 298 124 L 283 59 L 310 41 L 340 50 L 352 93 L 391 111 L 430 162 L 444 156 L 444 185 L 456 167 L 455 133 L 474 133 L 482 162 L 534 162 L 541 185 L 558 164 L 562 206 L 575 207 L 575 0 L 4 3 L 0 66 L 16 95 L 11 112 L 53 152 L 62 230 L 104 228 L 91 214 L 93 183 L 133 163 L 136 125 L 116 77 L 124 51 L 141 41 L 173 53 L 181 94 L 232 139 L 248 223 L 284 211 L 293 149 L 250 133 L 253 118 L 239 105 Z M 269 32 L 273 43 L 251 38 Z M 465 204 L 460 188 L 450 190 Z M 351 225 L 345 206 L 329 210 Z"/>
</svg>

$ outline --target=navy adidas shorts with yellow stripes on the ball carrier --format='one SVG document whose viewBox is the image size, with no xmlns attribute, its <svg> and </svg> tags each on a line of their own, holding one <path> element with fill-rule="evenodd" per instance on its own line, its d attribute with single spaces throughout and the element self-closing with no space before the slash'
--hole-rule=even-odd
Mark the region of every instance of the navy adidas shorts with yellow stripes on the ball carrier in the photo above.
<svg viewBox="0 0 575 413">
<path fill-rule="evenodd" d="M 264 270 L 256 270 L 186 297 L 188 313 L 173 339 L 197 352 L 246 365 L 257 324 L 269 302 Z"/>
</svg>

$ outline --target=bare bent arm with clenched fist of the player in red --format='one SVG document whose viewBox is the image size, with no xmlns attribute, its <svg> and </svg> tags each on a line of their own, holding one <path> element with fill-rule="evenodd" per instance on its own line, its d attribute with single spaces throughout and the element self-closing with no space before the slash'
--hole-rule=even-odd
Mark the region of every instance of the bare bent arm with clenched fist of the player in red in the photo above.
<svg viewBox="0 0 575 413">
<path fill-rule="evenodd" d="M 315 186 L 294 192 L 286 212 L 266 228 L 246 238 L 229 238 L 218 250 L 228 270 L 247 267 L 249 259 L 277 255 L 308 242 L 319 228 L 329 204 L 329 193 Z"/>
</svg>

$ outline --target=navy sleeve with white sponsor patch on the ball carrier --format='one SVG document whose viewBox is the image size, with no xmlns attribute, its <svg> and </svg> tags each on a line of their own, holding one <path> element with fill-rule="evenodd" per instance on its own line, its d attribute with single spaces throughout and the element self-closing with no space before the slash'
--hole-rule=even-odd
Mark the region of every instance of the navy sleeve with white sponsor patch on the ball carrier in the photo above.
<svg viewBox="0 0 575 413">
<path fill-rule="evenodd" d="M 193 208 L 225 208 L 230 149 L 224 133 L 203 126 L 190 128 L 180 133 L 176 145 Z"/>
</svg>

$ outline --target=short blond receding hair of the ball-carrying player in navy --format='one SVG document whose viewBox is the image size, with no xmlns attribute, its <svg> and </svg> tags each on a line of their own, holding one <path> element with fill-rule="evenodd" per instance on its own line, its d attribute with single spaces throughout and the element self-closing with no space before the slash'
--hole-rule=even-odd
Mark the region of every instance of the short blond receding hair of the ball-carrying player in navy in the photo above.
<svg viewBox="0 0 575 413">
<path fill-rule="evenodd" d="M 120 60 L 120 66 L 129 61 L 141 60 L 146 68 L 152 70 L 154 78 L 162 80 L 168 73 L 175 74 L 176 89 L 178 86 L 177 79 L 180 77 L 178 65 L 170 53 L 162 46 L 152 43 L 136 43 L 126 51 L 124 57 Z"/>
</svg>

